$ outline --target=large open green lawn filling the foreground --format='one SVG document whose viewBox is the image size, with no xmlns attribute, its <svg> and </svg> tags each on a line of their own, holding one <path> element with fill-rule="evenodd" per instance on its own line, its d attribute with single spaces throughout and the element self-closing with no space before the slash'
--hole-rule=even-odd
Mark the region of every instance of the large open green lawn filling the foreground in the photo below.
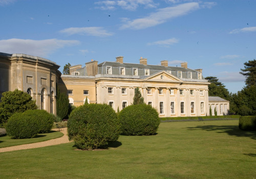
<svg viewBox="0 0 256 179">
<path fill-rule="evenodd" d="M 0 153 L 1 178 L 253 178 L 256 131 L 238 120 L 161 123 L 155 136 L 120 136 L 109 150 L 74 143 Z"/>
</svg>

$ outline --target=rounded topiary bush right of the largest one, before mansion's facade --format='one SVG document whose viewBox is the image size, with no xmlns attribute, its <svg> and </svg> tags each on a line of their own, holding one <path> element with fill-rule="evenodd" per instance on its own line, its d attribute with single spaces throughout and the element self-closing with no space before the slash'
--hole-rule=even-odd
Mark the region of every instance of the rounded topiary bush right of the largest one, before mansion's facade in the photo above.
<svg viewBox="0 0 256 179">
<path fill-rule="evenodd" d="M 154 135 L 160 124 L 157 110 L 151 105 L 137 104 L 122 109 L 119 113 L 123 135 Z"/>
</svg>

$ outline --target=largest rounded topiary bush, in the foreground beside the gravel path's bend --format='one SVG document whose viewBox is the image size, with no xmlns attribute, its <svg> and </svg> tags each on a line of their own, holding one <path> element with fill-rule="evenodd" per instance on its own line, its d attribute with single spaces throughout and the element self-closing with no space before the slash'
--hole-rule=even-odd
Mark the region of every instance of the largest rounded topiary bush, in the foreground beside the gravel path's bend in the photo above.
<svg viewBox="0 0 256 179">
<path fill-rule="evenodd" d="M 109 105 L 82 105 L 70 114 L 68 136 L 79 149 L 105 148 L 117 141 L 119 135 L 119 120 Z"/>
</svg>

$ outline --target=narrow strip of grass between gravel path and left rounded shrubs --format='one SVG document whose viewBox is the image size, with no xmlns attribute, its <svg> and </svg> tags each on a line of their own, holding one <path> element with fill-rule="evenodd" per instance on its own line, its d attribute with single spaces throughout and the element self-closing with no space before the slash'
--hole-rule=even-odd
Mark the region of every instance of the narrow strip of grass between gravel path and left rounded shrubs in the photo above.
<svg viewBox="0 0 256 179">
<path fill-rule="evenodd" d="M 10 136 L 3 136 L 0 137 L 0 148 L 48 141 L 50 139 L 59 138 L 61 136 L 63 136 L 63 133 L 53 130 L 49 133 L 40 133 L 36 137 L 31 139 L 11 139 Z"/>
</svg>

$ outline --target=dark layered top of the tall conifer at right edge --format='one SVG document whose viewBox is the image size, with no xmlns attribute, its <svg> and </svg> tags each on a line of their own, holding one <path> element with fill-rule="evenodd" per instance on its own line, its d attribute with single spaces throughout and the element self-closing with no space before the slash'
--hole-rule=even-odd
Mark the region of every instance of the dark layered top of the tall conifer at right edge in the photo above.
<svg viewBox="0 0 256 179">
<path fill-rule="evenodd" d="M 244 68 L 241 69 L 242 72 L 240 74 L 246 77 L 245 84 L 248 86 L 256 85 L 256 60 L 245 62 Z"/>
</svg>

